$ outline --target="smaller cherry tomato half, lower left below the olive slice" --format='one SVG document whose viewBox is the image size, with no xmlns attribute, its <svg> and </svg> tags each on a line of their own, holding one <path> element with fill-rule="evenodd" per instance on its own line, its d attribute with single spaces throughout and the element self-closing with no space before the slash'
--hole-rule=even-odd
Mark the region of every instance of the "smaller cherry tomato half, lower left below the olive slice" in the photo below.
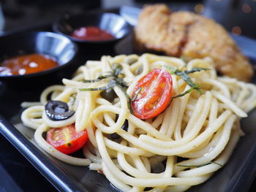
<svg viewBox="0 0 256 192">
<path fill-rule="evenodd" d="M 79 150 L 87 139 L 87 131 L 83 130 L 77 133 L 74 124 L 61 128 L 51 128 L 46 136 L 47 142 L 64 154 Z"/>
</svg>

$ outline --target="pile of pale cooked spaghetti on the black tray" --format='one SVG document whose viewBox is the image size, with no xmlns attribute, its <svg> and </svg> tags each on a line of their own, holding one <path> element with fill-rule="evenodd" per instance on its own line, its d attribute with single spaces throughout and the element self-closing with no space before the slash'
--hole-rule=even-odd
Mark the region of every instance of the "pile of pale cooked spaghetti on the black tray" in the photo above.
<svg viewBox="0 0 256 192">
<path fill-rule="evenodd" d="M 134 59 L 135 62 L 129 64 Z M 227 162 L 239 137 L 243 135 L 239 120 L 256 105 L 256 87 L 230 77 L 218 77 L 210 58 L 185 63 L 181 58 L 152 54 L 102 56 L 101 61 L 87 61 L 72 80 L 53 85 L 42 92 L 39 103 L 23 103 L 24 125 L 36 129 L 39 147 L 67 164 L 89 166 L 108 178 L 121 191 L 186 191 L 208 180 Z M 136 83 L 154 68 L 172 66 L 179 70 L 206 68 L 189 74 L 202 93 L 192 91 L 171 101 L 155 118 L 140 120 L 129 111 L 124 91 L 114 87 L 117 97 L 110 101 L 99 88 L 105 81 L 94 80 L 121 64 L 127 94 L 132 97 Z M 181 77 L 172 74 L 173 96 L 189 90 Z M 53 121 L 45 115 L 47 101 L 64 101 L 75 115 Z M 118 120 L 116 121 L 116 114 Z M 121 126 L 128 120 L 127 131 Z M 89 142 L 83 147 L 85 158 L 65 155 L 42 137 L 50 128 L 75 123 L 76 131 L 86 128 Z M 120 139 L 111 139 L 117 133 Z"/>
</svg>

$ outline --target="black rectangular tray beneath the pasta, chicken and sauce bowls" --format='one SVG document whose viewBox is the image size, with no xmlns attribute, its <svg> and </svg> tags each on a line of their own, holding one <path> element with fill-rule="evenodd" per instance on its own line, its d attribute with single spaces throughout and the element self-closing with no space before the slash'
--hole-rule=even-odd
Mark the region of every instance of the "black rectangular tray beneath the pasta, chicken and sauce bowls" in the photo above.
<svg viewBox="0 0 256 192">
<path fill-rule="evenodd" d="M 51 31 L 50 25 L 37 28 L 27 28 L 27 31 Z M 16 32 L 18 33 L 18 31 Z M 6 34 L 6 36 L 12 36 Z M 245 37 L 234 37 L 243 52 L 256 65 L 255 40 Z M 1 45 L 0 45 L 1 46 Z M 91 47 L 93 46 L 93 47 Z M 128 37 L 117 45 L 79 45 L 78 57 L 73 63 L 73 70 L 61 72 L 61 77 L 69 77 L 80 64 L 94 60 L 101 55 L 116 55 L 131 53 L 131 39 Z M 253 82 L 255 83 L 256 78 Z M 42 85 L 33 90 L 11 89 L 0 82 L 0 132 L 43 174 L 59 191 L 118 191 L 108 182 L 104 175 L 90 171 L 87 167 L 65 164 L 41 150 L 34 142 L 34 131 L 23 126 L 20 120 L 20 103 L 22 101 L 38 101 L 39 94 L 48 85 Z M 189 189 L 192 191 L 248 191 L 256 174 L 256 110 L 249 113 L 249 118 L 242 121 L 245 136 L 241 137 L 233 155 L 227 164 L 214 174 L 211 179 L 201 185 Z"/>
</svg>

